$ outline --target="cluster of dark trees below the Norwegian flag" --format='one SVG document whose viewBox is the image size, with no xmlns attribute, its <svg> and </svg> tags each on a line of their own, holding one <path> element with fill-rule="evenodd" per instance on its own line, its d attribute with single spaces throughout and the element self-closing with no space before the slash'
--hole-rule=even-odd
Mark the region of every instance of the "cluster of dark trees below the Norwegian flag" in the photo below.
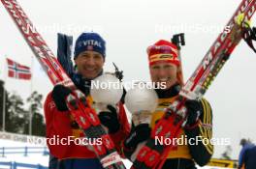
<svg viewBox="0 0 256 169">
<path fill-rule="evenodd" d="M 3 95 L 4 82 L 0 80 L 0 129 L 3 130 Z M 32 113 L 32 135 L 45 136 L 46 124 L 40 113 L 42 110 L 43 96 L 33 92 L 26 99 L 29 103 L 28 109 L 24 108 L 23 99 L 17 94 L 5 92 L 5 130 L 19 134 L 29 134 L 30 114 Z"/>
</svg>

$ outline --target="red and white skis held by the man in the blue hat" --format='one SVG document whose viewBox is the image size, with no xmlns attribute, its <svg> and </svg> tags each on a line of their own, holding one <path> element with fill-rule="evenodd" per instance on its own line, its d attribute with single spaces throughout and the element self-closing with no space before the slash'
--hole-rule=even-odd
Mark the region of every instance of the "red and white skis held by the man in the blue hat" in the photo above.
<svg viewBox="0 0 256 169">
<path fill-rule="evenodd" d="M 102 166 L 106 169 L 125 169 L 121 157 L 115 151 L 110 135 L 101 126 L 95 110 L 87 104 L 85 96 L 76 88 L 73 81 L 62 69 L 49 49 L 48 44 L 36 31 L 28 16 L 17 4 L 16 0 L 1 0 L 1 2 L 16 22 L 17 28 L 33 50 L 40 64 L 48 73 L 53 85 L 62 84 L 73 90 L 73 94 L 68 97 L 66 103 L 69 109 L 72 110 L 72 115 L 80 128 L 83 129 L 86 137 L 102 138 L 102 145 L 92 145 L 94 153 L 98 156 Z"/>
</svg>

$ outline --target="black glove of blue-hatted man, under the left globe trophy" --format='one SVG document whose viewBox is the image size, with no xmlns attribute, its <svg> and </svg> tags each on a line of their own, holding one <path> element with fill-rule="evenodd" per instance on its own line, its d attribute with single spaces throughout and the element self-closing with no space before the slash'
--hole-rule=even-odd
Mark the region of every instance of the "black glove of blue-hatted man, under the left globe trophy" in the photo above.
<svg viewBox="0 0 256 169">
<path fill-rule="evenodd" d="M 119 130 L 120 124 L 118 122 L 116 109 L 112 105 L 108 105 L 107 108 L 110 111 L 102 111 L 99 113 L 98 117 L 105 127 L 108 127 L 109 133 L 115 133 Z"/>
</svg>

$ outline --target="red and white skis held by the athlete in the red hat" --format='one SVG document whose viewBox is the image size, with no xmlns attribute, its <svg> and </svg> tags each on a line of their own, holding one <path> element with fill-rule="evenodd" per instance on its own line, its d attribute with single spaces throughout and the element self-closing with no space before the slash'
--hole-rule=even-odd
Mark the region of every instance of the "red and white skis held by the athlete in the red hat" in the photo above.
<svg viewBox="0 0 256 169">
<path fill-rule="evenodd" d="M 242 39 L 247 30 L 244 21 L 249 20 L 255 13 L 256 0 L 243 0 L 236 13 L 232 16 L 224 30 L 211 45 L 208 53 L 194 71 L 192 76 L 179 92 L 178 99 L 167 109 L 165 115 L 152 129 L 150 138 L 140 150 L 132 168 L 134 169 L 161 169 L 172 145 L 155 145 L 155 138 L 163 137 L 176 138 L 181 127 L 185 125 L 187 117 L 186 109 L 183 106 L 186 99 L 202 99 L 208 90 L 208 86 L 216 77 L 217 73 L 224 66 L 229 56 Z M 244 19 L 239 25 L 236 18 L 244 14 Z"/>
</svg>

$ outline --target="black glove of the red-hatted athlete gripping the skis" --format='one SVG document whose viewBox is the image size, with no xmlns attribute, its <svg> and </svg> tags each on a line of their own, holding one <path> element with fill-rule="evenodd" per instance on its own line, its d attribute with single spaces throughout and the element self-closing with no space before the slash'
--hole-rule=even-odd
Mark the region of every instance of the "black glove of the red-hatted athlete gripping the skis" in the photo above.
<svg viewBox="0 0 256 169">
<path fill-rule="evenodd" d="M 198 100 L 188 99 L 185 102 L 185 106 L 188 113 L 186 127 L 192 127 L 198 123 L 202 113 L 201 103 Z"/>
</svg>

